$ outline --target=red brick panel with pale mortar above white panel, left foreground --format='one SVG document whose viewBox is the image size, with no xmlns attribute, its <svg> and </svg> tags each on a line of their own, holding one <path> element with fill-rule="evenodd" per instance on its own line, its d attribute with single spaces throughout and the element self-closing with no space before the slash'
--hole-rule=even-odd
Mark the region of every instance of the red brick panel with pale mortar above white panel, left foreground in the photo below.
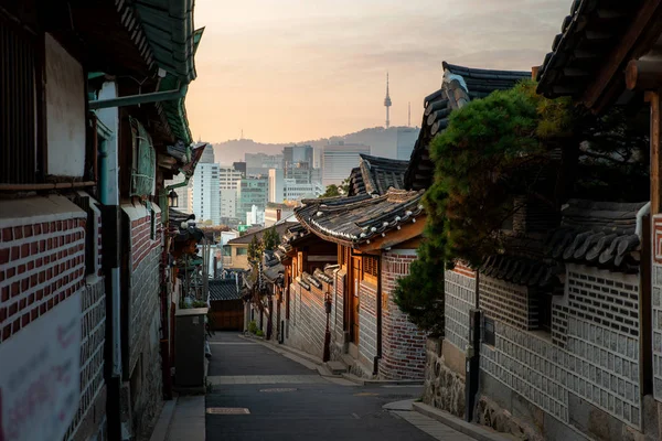
<svg viewBox="0 0 662 441">
<path fill-rule="evenodd" d="M 0 219 L 0 342 L 49 314 L 85 283 L 87 214 L 62 196 L 23 204 L 29 205 L 0 205 L 3 215 L 43 207 L 32 216 Z"/>
</svg>

